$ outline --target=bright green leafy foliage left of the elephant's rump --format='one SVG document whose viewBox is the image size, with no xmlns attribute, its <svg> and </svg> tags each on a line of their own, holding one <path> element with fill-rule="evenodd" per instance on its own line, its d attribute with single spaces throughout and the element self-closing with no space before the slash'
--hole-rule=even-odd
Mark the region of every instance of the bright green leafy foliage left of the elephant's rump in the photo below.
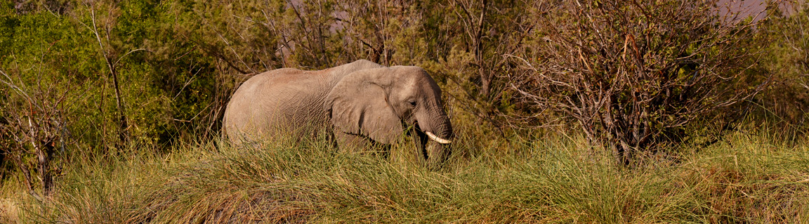
<svg viewBox="0 0 809 224">
<path fill-rule="evenodd" d="M 73 86 L 68 88 L 83 91 L 71 104 L 81 109 L 68 115 L 74 120 L 70 129 L 76 146 L 114 143 L 116 94 L 105 57 L 116 62 L 133 142 L 165 147 L 182 132 L 188 136 L 188 131 L 208 131 L 210 137 L 218 129 L 210 124 L 219 117 L 209 111 L 222 108 L 233 84 L 216 74 L 215 61 L 175 32 L 183 24 L 173 22 L 188 9 L 158 1 L 69 4 L 71 10 L 64 15 L 45 10 L 19 13 L 5 5 L 2 28 L 7 32 L 0 43 L 10 47 L 2 48 L 8 53 L 0 59 L 13 78 L 27 83 L 70 80 Z M 25 72 L 40 64 L 48 70 L 45 75 Z"/>
</svg>

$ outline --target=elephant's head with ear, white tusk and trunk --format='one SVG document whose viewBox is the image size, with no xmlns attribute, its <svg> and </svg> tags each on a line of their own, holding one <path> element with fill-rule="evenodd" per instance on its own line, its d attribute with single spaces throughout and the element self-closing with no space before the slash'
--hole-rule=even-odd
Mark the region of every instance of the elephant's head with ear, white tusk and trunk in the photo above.
<svg viewBox="0 0 809 224">
<path fill-rule="evenodd" d="M 453 133 L 441 89 L 420 67 L 355 71 L 337 82 L 326 96 L 324 108 L 335 132 L 393 144 L 405 128 L 413 127 L 430 163 L 443 162 L 448 154 L 444 145 L 451 143 Z"/>
</svg>

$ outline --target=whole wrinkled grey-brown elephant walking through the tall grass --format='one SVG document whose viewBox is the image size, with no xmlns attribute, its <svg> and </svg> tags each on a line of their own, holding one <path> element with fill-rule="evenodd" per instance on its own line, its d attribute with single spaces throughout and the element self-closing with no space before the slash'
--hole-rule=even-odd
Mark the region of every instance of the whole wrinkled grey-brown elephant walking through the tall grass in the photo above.
<svg viewBox="0 0 809 224">
<path fill-rule="evenodd" d="M 430 164 L 443 162 L 448 147 L 426 132 L 453 137 L 441 89 L 425 70 L 366 60 L 257 74 L 236 90 L 222 123 L 224 136 L 236 144 L 278 134 L 313 136 L 321 128 L 331 130 L 340 148 L 389 146 L 411 134 Z"/>
</svg>

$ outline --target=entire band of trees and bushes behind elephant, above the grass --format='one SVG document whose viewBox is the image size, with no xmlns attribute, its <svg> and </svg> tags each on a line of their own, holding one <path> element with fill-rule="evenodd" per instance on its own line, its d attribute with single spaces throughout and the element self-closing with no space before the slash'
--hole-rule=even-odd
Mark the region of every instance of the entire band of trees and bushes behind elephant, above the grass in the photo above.
<svg viewBox="0 0 809 224">
<path fill-rule="evenodd" d="M 252 74 L 357 59 L 428 70 L 457 130 L 494 136 L 478 146 L 562 125 L 629 163 L 731 124 L 739 103 L 777 101 L 761 116 L 803 127 L 809 11 L 724 18 L 717 4 L 0 2 L 0 172 L 48 195 L 70 159 L 218 136 Z"/>
</svg>

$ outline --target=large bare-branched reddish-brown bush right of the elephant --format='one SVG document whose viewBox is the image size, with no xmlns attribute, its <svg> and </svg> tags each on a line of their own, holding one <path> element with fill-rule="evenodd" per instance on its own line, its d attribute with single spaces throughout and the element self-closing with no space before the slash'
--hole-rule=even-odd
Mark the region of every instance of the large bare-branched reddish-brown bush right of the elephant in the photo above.
<svg viewBox="0 0 809 224">
<path fill-rule="evenodd" d="M 510 88 L 530 108 L 578 121 L 629 164 L 637 150 L 688 136 L 685 125 L 750 98 L 756 20 L 718 1 L 562 1 L 535 12 L 535 45 L 510 57 Z"/>
</svg>

